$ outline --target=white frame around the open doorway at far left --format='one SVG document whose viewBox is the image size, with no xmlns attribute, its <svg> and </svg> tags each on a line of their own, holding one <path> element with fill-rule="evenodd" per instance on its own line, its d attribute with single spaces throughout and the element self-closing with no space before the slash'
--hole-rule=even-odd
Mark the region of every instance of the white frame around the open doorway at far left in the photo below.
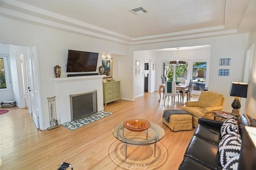
<svg viewBox="0 0 256 170">
<path fill-rule="evenodd" d="M 20 45 L 25 47 L 30 47 L 30 51 L 34 48 L 34 69 L 35 69 L 35 89 L 37 90 L 37 101 L 38 101 L 38 117 L 39 117 L 39 124 L 40 129 L 44 130 L 44 116 L 42 112 L 42 93 L 41 93 L 41 83 L 40 83 L 40 70 L 39 70 L 39 57 L 38 57 L 38 45 L 30 44 L 30 43 L 22 43 L 22 42 L 14 42 L 14 41 L 5 41 L 0 39 L 0 43 L 8 44 L 8 45 Z M 31 55 L 31 54 L 30 54 Z M 26 62 L 26 61 L 25 61 Z M 28 77 L 26 77 L 28 78 Z"/>
</svg>

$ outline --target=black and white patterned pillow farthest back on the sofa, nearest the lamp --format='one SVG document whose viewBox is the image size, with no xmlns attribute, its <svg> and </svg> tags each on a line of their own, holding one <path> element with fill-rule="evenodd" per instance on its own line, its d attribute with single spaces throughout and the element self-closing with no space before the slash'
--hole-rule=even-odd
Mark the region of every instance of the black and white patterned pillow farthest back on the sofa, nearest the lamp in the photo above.
<svg viewBox="0 0 256 170">
<path fill-rule="evenodd" d="M 230 133 L 234 130 L 238 130 L 238 128 L 239 128 L 239 126 L 236 123 L 236 119 L 234 117 L 230 117 L 230 118 L 226 119 L 226 121 L 224 121 L 224 123 L 222 124 L 222 126 L 220 128 L 221 137 L 223 138 L 228 133 Z"/>
</svg>

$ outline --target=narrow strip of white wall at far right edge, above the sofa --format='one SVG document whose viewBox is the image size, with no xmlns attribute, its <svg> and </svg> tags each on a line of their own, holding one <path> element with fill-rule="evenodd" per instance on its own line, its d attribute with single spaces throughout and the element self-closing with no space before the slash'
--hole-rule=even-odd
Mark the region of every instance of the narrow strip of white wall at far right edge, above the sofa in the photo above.
<svg viewBox="0 0 256 170">
<path fill-rule="evenodd" d="M 250 32 L 248 48 L 254 44 L 245 113 L 256 119 L 256 27 Z"/>
</svg>

